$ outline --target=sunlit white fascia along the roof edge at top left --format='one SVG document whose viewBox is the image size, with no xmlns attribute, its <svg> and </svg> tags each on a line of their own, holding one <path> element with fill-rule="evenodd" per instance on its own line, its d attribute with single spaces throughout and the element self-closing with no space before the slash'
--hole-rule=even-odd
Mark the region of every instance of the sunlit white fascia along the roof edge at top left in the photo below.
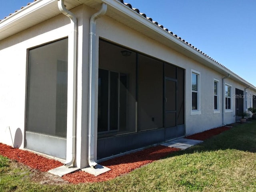
<svg viewBox="0 0 256 192">
<path fill-rule="evenodd" d="M 30 5 L 22 8 L 18 12 L 0 21 L 0 32 L 7 30 L 8 28 L 11 28 L 12 26 L 26 20 L 29 17 L 29 14 L 31 14 L 32 12 L 36 12 L 40 8 L 43 8 L 53 2 L 56 2 L 56 0 L 37 0 Z"/>
</svg>

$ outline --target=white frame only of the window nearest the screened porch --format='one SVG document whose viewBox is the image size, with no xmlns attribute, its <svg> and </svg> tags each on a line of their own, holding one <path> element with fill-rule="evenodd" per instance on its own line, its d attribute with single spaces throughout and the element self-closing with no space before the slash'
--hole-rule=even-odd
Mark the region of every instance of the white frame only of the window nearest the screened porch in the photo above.
<svg viewBox="0 0 256 192">
<path fill-rule="evenodd" d="M 195 91 L 192 91 L 192 74 L 196 74 L 197 75 L 197 83 L 198 83 L 198 87 L 197 87 L 197 109 L 196 110 L 192 110 L 192 92 L 195 92 Z M 191 104 L 190 104 L 190 107 L 191 107 L 191 110 L 190 110 L 190 115 L 200 115 L 202 114 L 201 112 L 201 105 L 200 105 L 200 100 L 201 100 L 201 94 L 200 94 L 200 79 L 201 79 L 201 73 L 199 71 L 196 71 L 196 70 L 193 70 L 191 69 Z"/>
</svg>

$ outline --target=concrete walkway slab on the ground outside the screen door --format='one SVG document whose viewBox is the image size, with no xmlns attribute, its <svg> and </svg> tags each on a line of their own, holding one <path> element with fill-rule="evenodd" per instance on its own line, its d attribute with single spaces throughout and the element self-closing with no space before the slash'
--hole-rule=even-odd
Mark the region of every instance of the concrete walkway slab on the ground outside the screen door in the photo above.
<svg viewBox="0 0 256 192">
<path fill-rule="evenodd" d="M 168 142 L 163 143 L 163 146 L 167 146 L 167 147 L 175 147 L 175 148 L 179 148 L 182 150 L 185 150 L 191 146 L 197 145 L 202 143 L 203 141 L 200 140 L 193 140 L 193 139 L 185 139 L 185 138 L 178 138 L 175 140 L 171 140 Z"/>
</svg>

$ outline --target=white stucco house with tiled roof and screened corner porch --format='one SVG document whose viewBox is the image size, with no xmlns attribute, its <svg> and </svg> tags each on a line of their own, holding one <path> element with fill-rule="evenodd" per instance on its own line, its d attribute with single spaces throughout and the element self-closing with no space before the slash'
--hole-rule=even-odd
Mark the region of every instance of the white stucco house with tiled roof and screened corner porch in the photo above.
<svg viewBox="0 0 256 192">
<path fill-rule="evenodd" d="M 122 0 L 0 20 L 0 142 L 78 168 L 230 124 L 256 87 Z"/>
</svg>

